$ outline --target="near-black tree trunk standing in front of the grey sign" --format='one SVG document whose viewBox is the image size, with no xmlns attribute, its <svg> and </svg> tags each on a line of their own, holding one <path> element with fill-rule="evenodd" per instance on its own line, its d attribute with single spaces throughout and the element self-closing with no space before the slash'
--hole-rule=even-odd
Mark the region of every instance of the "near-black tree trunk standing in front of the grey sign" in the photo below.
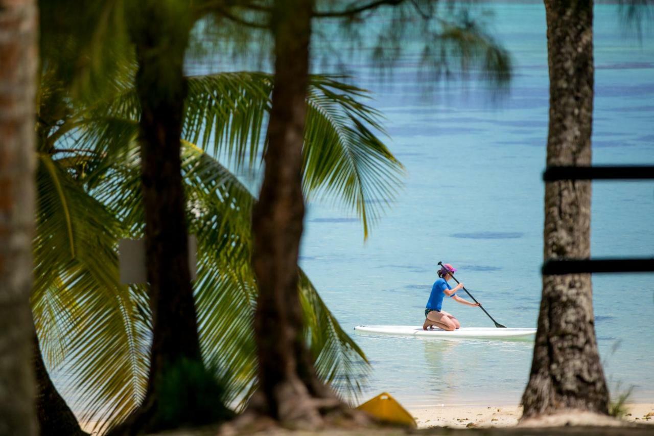
<svg viewBox="0 0 654 436">
<path fill-rule="evenodd" d="M 188 6 L 188 5 L 187 5 Z M 141 187 L 152 349 L 145 399 L 112 434 L 137 434 L 196 426 L 232 416 L 203 365 L 188 268 L 186 200 L 181 175 L 184 52 L 190 33 L 183 3 L 144 0 L 131 17 L 139 69 Z M 163 388 L 163 384 L 167 384 Z M 207 393 L 208 392 L 208 393 Z M 202 395 L 201 395 L 202 393 Z M 206 396 L 211 396 L 207 410 Z M 165 409 L 165 411 L 163 411 Z"/>
</svg>

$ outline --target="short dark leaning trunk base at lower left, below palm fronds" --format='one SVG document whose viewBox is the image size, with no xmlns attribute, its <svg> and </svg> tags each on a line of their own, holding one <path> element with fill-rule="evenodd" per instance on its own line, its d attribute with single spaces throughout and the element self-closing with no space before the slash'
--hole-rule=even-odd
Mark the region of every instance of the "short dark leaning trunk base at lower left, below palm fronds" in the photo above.
<svg viewBox="0 0 654 436">
<path fill-rule="evenodd" d="M 41 436 L 88 435 L 82 431 L 75 414 L 52 384 L 43 363 L 39 338 L 35 331 L 32 335 L 32 359 L 37 380 L 37 418 L 41 429 L 39 434 Z"/>
</svg>

